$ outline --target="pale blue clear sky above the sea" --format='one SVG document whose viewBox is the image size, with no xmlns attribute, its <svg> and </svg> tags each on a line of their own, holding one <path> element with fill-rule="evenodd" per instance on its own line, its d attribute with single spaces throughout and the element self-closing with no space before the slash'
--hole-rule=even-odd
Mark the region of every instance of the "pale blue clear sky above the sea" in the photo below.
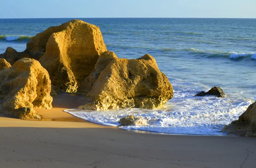
<svg viewBox="0 0 256 168">
<path fill-rule="evenodd" d="M 0 0 L 0 18 L 256 18 L 256 0 Z"/>
</svg>

